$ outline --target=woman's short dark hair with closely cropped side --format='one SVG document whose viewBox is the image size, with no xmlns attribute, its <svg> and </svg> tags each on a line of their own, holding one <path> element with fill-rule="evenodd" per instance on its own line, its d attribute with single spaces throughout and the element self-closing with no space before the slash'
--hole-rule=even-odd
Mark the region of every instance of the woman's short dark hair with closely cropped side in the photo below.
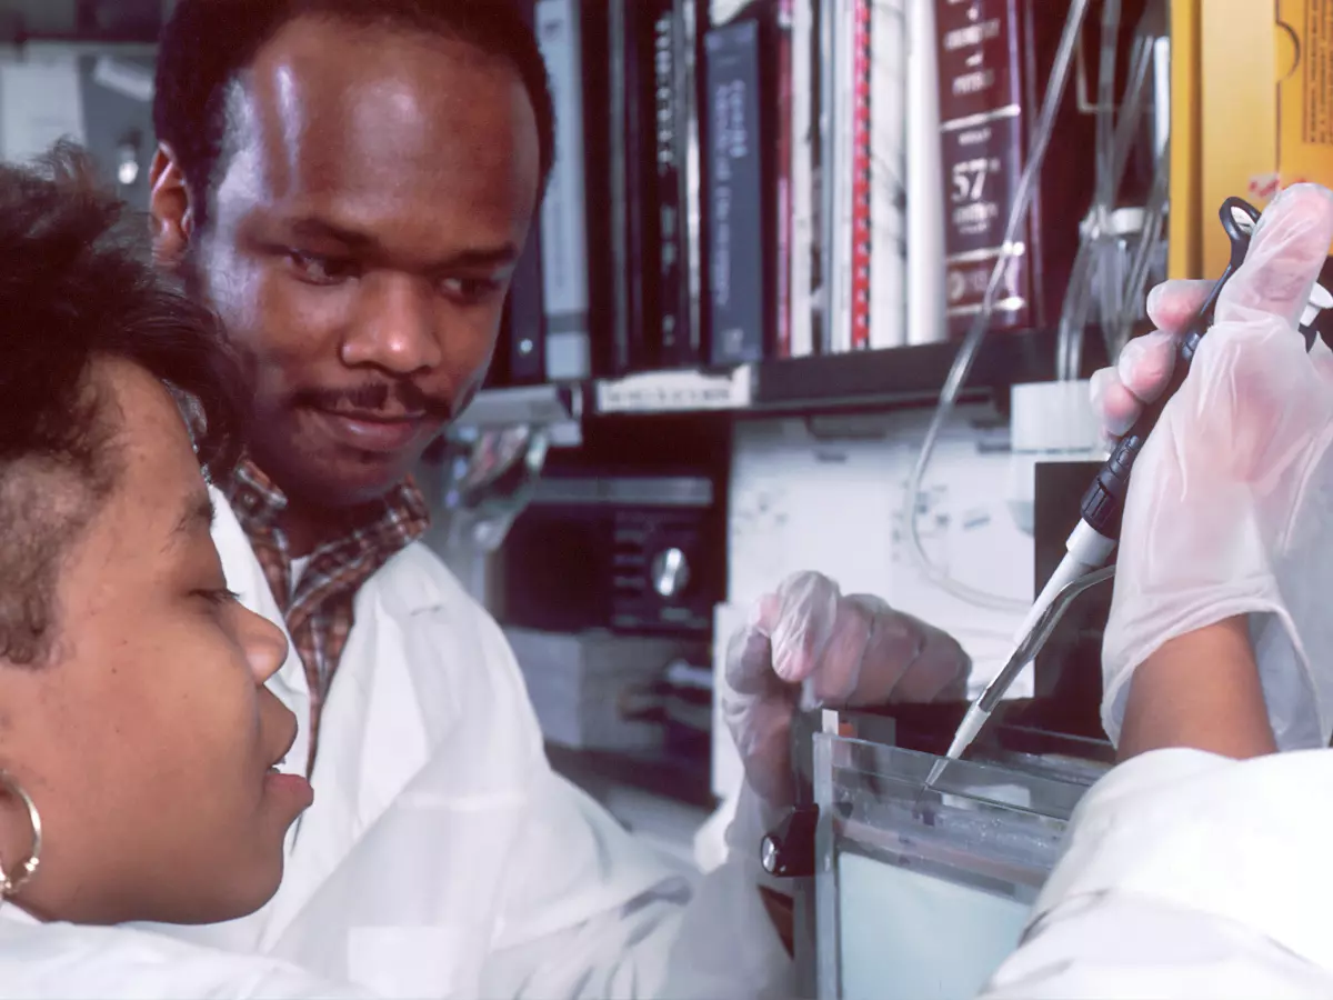
<svg viewBox="0 0 1333 1000">
<path fill-rule="evenodd" d="M 59 557 L 119 475 L 117 417 L 89 379 L 120 359 L 188 413 L 201 464 L 229 472 L 241 377 L 216 317 L 149 263 L 147 227 L 91 159 L 59 144 L 0 164 L 0 659 L 33 663 L 52 637 Z"/>
</svg>

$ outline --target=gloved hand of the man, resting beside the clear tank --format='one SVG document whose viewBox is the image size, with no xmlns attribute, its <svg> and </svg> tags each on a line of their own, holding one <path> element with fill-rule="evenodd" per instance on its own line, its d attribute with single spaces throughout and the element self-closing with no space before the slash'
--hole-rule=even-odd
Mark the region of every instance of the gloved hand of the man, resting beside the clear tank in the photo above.
<svg viewBox="0 0 1333 1000">
<path fill-rule="evenodd" d="M 810 711 L 961 696 L 969 668 L 962 647 L 940 629 L 878 597 L 844 596 L 820 573 L 794 573 L 732 636 L 722 712 L 750 787 L 768 804 L 786 805 L 797 704 Z"/>
</svg>

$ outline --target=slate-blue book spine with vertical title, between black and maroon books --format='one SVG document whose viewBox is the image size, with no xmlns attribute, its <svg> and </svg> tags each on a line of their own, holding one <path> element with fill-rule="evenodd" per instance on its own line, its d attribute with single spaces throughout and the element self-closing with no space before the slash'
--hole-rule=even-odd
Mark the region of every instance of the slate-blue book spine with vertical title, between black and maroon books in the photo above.
<svg viewBox="0 0 1333 1000">
<path fill-rule="evenodd" d="M 757 361 L 765 355 L 772 305 L 765 280 L 772 200 L 765 197 L 760 128 L 760 24 L 714 28 L 704 47 L 710 359 Z"/>
</svg>

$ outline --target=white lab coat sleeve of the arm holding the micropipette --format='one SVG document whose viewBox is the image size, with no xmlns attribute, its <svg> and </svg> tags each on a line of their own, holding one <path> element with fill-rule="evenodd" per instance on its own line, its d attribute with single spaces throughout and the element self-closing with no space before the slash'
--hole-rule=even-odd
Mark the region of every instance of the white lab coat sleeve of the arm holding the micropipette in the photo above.
<svg viewBox="0 0 1333 1000">
<path fill-rule="evenodd" d="M 1080 804 L 984 1000 L 1333 996 L 1333 751 L 1157 751 Z"/>
</svg>

